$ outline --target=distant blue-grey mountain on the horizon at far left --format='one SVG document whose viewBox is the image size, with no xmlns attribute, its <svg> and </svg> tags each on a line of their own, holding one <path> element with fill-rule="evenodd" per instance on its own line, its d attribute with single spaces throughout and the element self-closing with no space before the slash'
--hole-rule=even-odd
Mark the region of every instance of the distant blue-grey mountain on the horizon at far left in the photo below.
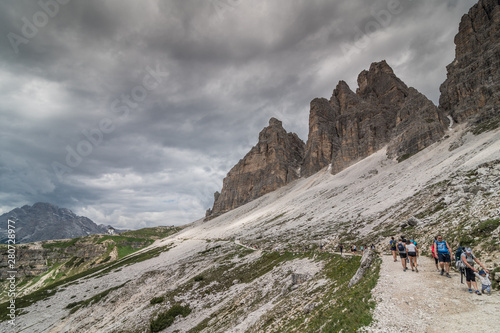
<svg viewBox="0 0 500 333">
<path fill-rule="evenodd" d="M 77 216 L 71 210 L 50 203 L 37 202 L 33 206 L 15 208 L 0 216 L 0 225 L 16 221 L 16 243 L 31 243 L 52 239 L 76 238 L 108 232 L 108 226 L 97 225 L 91 219 Z M 0 230 L 0 243 L 7 241 L 7 228 Z"/>
</svg>

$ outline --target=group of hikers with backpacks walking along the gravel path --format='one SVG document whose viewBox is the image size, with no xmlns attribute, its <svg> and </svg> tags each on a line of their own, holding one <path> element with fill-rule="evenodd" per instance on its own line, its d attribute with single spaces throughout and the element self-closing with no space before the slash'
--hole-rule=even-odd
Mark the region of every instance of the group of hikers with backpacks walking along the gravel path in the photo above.
<svg viewBox="0 0 500 333">
<path fill-rule="evenodd" d="M 417 257 L 419 256 L 419 248 L 417 242 L 413 238 L 407 240 L 402 236 L 398 241 L 396 241 L 394 237 L 391 237 L 389 247 L 392 252 L 394 262 L 398 261 L 397 255 L 399 254 L 404 272 L 408 270 L 407 263 L 409 262 L 411 270 L 418 273 Z M 441 235 L 434 237 L 434 241 L 431 245 L 431 252 L 436 264 L 436 270 L 440 272 L 442 276 L 451 278 L 450 266 L 453 251 L 448 242 L 443 240 Z M 476 269 L 474 267 L 475 263 L 483 269 Z M 460 270 L 462 278 L 465 276 L 469 293 L 475 292 L 477 295 L 481 295 L 481 293 L 485 292 L 488 294 L 491 293 L 489 271 L 486 267 L 484 267 L 479 259 L 472 254 L 472 249 L 470 247 L 460 246 L 457 249 L 455 252 L 455 265 Z M 476 277 L 478 277 L 481 281 L 481 292 L 477 287 Z M 472 288 L 474 288 L 475 291 Z"/>
</svg>

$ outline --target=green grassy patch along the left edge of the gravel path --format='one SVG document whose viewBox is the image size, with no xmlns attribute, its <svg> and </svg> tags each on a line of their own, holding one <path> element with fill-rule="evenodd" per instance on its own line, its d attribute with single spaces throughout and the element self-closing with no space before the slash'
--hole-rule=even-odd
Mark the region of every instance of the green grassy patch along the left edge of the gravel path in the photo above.
<svg viewBox="0 0 500 333">
<path fill-rule="evenodd" d="M 348 288 L 359 268 L 360 257 L 341 257 L 322 253 L 316 260 L 325 263 L 320 278 L 326 283 L 310 292 L 311 301 L 302 309 L 294 308 L 290 295 L 267 314 L 255 332 L 353 332 L 369 325 L 375 308 L 371 290 L 375 287 L 381 260 L 375 262 L 361 283 Z M 291 310 L 291 311 L 290 311 Z"/>
</svg>

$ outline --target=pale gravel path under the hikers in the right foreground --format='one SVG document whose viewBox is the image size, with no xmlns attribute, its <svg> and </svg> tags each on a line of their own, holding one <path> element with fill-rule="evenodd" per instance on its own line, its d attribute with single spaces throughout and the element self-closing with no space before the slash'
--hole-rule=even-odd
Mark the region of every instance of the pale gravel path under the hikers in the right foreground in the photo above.
<svg viewBox="0 0 500 333">
<path fill-rule="evenodd" d="M 418 264 L 419 273 L 403 272 L 399 258 L 383 256 L 374 323 L 365 332 L 500 332 L 498 292 L 470 294 L 460 274 L 441 276 L 427 257 Z"/>
</svg>

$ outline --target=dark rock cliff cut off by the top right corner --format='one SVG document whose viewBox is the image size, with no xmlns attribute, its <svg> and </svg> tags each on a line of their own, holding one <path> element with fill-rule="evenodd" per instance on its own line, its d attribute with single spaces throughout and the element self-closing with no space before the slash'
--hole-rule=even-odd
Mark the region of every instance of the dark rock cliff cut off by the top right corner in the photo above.
<svg viewBox="0 0 500 333">
<path fill-rule="evenodd" d="M 500 0 L 480 0 L 462 17 L 440 108 L 458 122 L 500 108 Z"/>
</svg>

